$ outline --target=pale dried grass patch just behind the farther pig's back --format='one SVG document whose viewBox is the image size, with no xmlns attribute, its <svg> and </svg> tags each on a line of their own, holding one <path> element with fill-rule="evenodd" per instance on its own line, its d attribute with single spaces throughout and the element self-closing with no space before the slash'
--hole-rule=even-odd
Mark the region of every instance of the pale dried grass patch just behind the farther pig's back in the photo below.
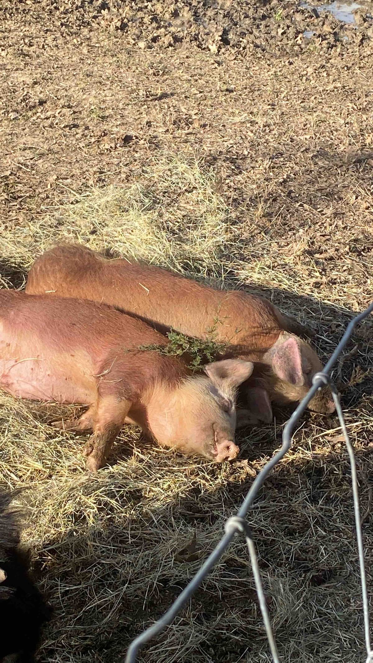
<svg viewBox="0 0 373 663">
<path fill-rule="evenodd" d="M 28 268 L 52 243 L 76 241 L 178 271 L 193 265 L 213 273 L 229 241 L 230 210 L 215 174 L 201 165 L 195 157 L 166 154 L 127 188 L 70 191 L 73 202 L 16 234 L 3 232 L 3 255 Z"/>
</svg>

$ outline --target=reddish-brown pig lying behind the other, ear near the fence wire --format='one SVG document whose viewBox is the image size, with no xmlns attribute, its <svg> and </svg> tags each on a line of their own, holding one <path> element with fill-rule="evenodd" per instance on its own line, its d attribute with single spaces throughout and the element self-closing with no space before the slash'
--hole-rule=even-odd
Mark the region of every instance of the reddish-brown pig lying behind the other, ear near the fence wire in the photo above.
<svg viewBox="0 0 373 663">
<path fill-rule="evenodd" d="M 245 418 L 270 422 L 270 401 L 301 400 L 322 369 L 309 343 L 295 335 L 302 326 L 268 300 L 240 290 L 215 290 L 133 259 L 107 259 L 87 247 L 61 245 L 35 261 L 26 291 L 112 304 L 163 333 L 172 327 L 206 338 L 213 329 L 217 341 L 229 344 L 227 356 L 255 362 L 240 425 Z M 318 392 L 309 409 L 334 412 L 331 392 Z"/>
</svg>

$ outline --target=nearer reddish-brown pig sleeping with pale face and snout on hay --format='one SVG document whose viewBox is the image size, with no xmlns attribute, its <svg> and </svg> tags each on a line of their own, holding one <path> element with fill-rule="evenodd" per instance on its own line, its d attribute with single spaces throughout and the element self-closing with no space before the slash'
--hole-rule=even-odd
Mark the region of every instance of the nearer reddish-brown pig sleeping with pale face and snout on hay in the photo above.
<svg viewBox="0 0 373 663">
<path fill-rule="evenodd" d="M 252 364 L 225 359 L 192 376 L 157 349 L 166 337 L 141 320 L 88 300 L 0 290 L 0 387 L 13 396 L 87 404 L 66 430 L 93 430 L 87 467 L 105 463 L 125 421 L 161 446 L 215 461 L 237 456 L 235 396 Z"/>
</svg>

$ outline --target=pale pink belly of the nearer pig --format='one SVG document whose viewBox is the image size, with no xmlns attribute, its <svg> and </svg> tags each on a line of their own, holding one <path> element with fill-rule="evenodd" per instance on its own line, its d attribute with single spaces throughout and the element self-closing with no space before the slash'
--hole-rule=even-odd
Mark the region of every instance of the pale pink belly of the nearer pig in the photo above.
<svg viewBox="0 0 373 663">
<path fill-rule="evenodd" d="M 58 403 L 91 404 L 95 383 L 81 382 L 47 359 L 0 359 L 0 387 L 18 398 Z"/>
</svg>

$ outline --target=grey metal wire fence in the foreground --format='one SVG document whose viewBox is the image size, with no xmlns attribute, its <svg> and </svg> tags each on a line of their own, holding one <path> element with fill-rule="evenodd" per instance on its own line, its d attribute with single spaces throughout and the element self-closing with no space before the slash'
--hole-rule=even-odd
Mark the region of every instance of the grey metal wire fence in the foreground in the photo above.
<svg viewBox="0 0 373 663">
<path fill-rule="evenodd" d="M 362 313 L 360 313 L 360 315 L 356 316 L 356 318 L 353 318 L 353 320 L 350 321 L 350 323 L 346 328 L 345 333 L 343 334 L 341 341 L 337 345 L 335 351 L 333 352 L 333 355 L 331 355 L 331 358 L 325 365 L 323 371 L 317 373 L 313 377 L 313 384 L 311 389 L 309 389 L 307 396 L 305 396 L 305 398 L 303 398 L 303 400 L 299 403 L 299 406 L 297 406 L 295 412 L 293 412 L 292 416 L 284 426 L 284 432 L 282 434 L 282 446 L 280 450 L 270 459 L 270 461 L 268 461 L 268 463 L 263 467 L 262 471 L 260 471 L 256 479 L 254 479 L 252 486 L 248 491 L 248 494 L 246 495 L 246 498 L 244 499 L 239 511 L 237 512 L 237 515 L 231 516 L 231 518 L 229 518 L 225 523 L 225 535 L 219 541 L 216 548 L 213 550 L 213 552 L 211 552 L 210 556 L 201 566 L 199 571 L 195 574 L 193 579 L 191 579 L 191 581 L 185 587 L 182 593 L 180 593 L 178 598 L 174 601 L 174 603 L 172 603 L 168 611 L 164 613 L 164 615 L 160 617 L 160 619 L 158 619 L 158 621 L 156 621 L 152 626 L 146 629 L 146 631 L 140 633 L 140 635 L 138 635 L 133 640 L 133 642 L 131 642 L 129 649 L 127 651 L 125 663 L 134 663 L 136 661 L 136 657 L 140 647 L 146 644 L 148 640 L 151 640 L 152 638 L 157 636 L 161 631 L 163 631 L 163 629 L 166 626 L 168 626 L 169 624 L 172 623 L 172 621 L 174 621 L 176 615 L 178 615 L 178 613 L 180 612 L 182 607 L 184 607 L 188 599 L 190 599 L 193 593 L 195 593 L 195 591 L 198 589 L 199 585 L 201 585 L 201 582 L 203 581 L 203 579 L 205 579 L 205 577 L 211 571 L 213 566 L 221 558 L 223 552 L 227 550 L 229 544 L 231 543 L 231 541 L 233 540 L 236 534 L 243 534 L 244 538 L 246 539 L 246 544 L 248 547 L 248 552 L 250 554 L 250 560 L 252 565 L 252 573 L 254 575 L 254 581 L 256 585 L 256 591 L 258 593 L 260 611 L 262 613 L 264 627 L 266 629 L 268 644 L 270 646 L 270 652 L 272 654 L 272 659 L 274 663 L 280 663 L 280 656 L 278 655 L 276 640 L 274 638 L 274 633 L 272 631 L 270 616 L 266 604 L 266 598 L 264 596 L 262 579 L 260 576 L 260 568 L 258 564 L 258 558 L 256 556 L 256 547 L 254 544 L 250 527 L 248 526 L 248 523 L 245 520 L 245 516 L 248 510 L 250 509 L 250 507 L 252 507 L 254 499 L 258 495 L 260 488 L 264 484 L 264 481 L 266 481 L 266 478 L 268 477 L 274 466 L 277 465 L 277 463 L 290 450 L 290 447 L 292 445 L 292 436 L 295 424 L 297 424 L 299 417 L 301 416 L 301 414 L 303 414 L 303 412 L 307 408 L 309 401 L 313 398 L 313 396 L 319 389 L 323 389 L 323 387 L 326 387 L 327 385 L 329 385 L 333 394 L 333 400 L 335 402 L 335 407 L 337 410 L 339 422 L 341 423 L 341 429 L 345 436 L 348 457 L 350 459 L 350 465 L 351 465 L 352 495 L 354 500 L 356 539 L 358 545 L 358 557 L 360 565 L 362 609 L 364 614 L 366 663 L 373 663 L 373 650 L 370 640 L 368 589 L 366 587 L 364 546 L 362 542 L 362 528 L 361 528 L 361 519 L 360 519 L 360 504 L 358 497 L 358 478 L 356 473 L 356 461 L 354 458 L 354 450 L 352 444 L 350 443 L 350 438 L 348 437 L 348 432 L 346 430 L 345 419 L 343 418 L 341 402 L 339 400 L 339 394 L 337 388 L 335 387 L 331 379 L 332 369 L 335 366 L 337 359 L 339 359 L 339 356 L 343 352 L 346 343 L 350 339 L 354 327 L 356 326 L 356 324 L 358 324 L 358 322 L 364 320 L 364 318 L 367 318 L 372 312 L 373 312 L 373 302 L 372 304 L 370 304 L 368 308 L 366 308 L 365 311 L 363 311 Z"/>
</svg>

